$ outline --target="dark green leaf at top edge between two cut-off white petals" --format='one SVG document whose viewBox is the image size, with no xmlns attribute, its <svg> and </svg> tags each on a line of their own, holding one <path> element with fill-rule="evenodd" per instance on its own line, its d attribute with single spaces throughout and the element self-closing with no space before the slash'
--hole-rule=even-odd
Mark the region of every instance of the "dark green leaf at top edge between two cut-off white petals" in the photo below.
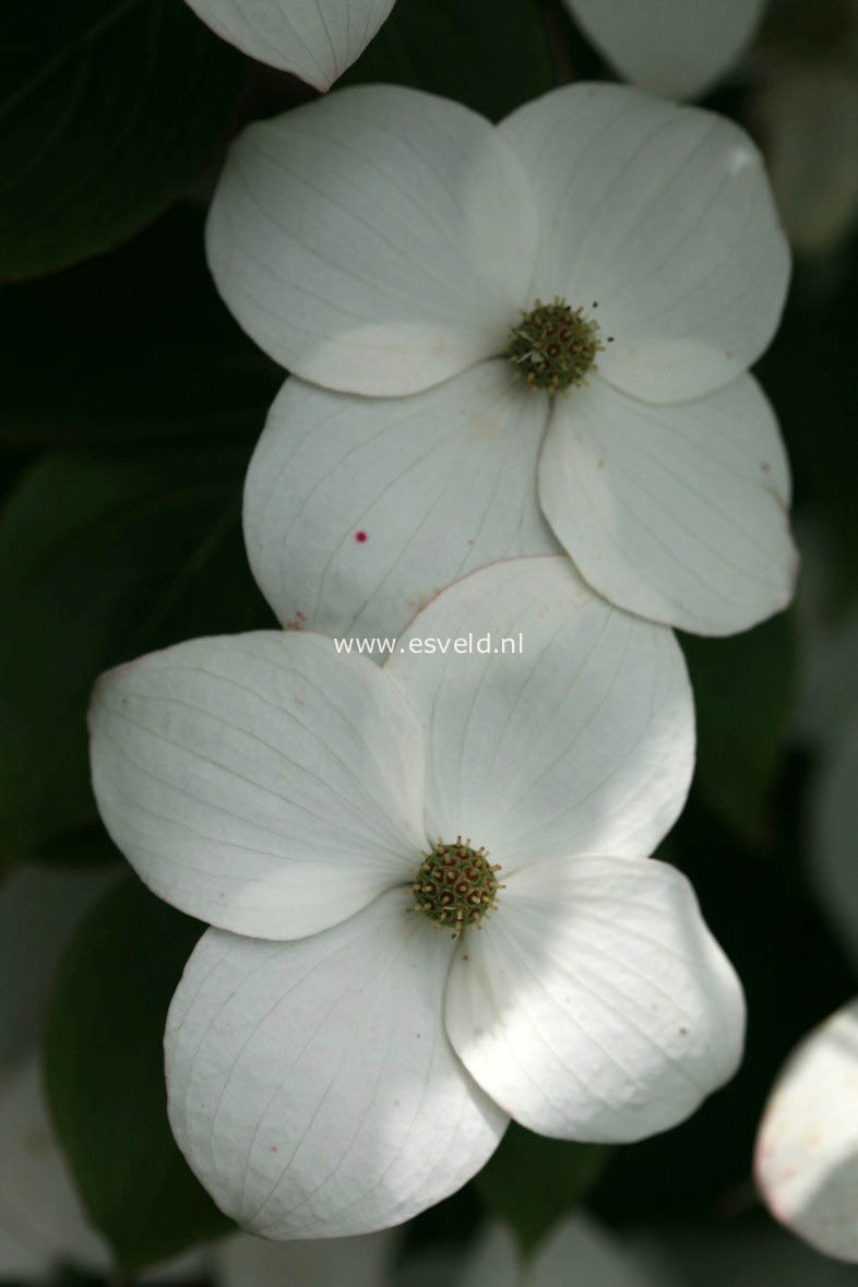
<svg viewBox="0 0 858 1287">
<path fill-rule="evenodd" d="M 491 120 L 553 85 L 536 0 L 397 0 L 341 84 L 397 81 Z"/>
</svg>

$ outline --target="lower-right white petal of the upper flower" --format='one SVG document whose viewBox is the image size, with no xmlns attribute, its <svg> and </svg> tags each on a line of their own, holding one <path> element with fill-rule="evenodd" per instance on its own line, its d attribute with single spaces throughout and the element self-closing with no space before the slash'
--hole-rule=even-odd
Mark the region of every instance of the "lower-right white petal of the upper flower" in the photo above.
<svg viewBox="0 0 858 1287">
<path fill-rule="evenodd" d="M 572 390 L 552 414 L 539 492 L 590 584 L 651 620 L 731 634 L 792 597 L 787 462 L 753 376 L 670 407 L 601 380 Z"/>
</svg>

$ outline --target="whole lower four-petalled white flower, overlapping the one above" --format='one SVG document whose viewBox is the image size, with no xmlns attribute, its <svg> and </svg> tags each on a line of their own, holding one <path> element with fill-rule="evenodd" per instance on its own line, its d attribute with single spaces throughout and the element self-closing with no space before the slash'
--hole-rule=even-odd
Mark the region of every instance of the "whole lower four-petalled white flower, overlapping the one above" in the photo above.
<svg viewBox="0 0 858 1287">
<path fill-rule="evenodd" d="M 466 632 L 495 650 L 412 649 Z M 738 981 L 643 858 L 692 770 L 682 654 L 569 560 L 466 578 L 383 669 L 298 631 L 180 644 L 104 676 L 91 731 L 111 834 L 214 927 L 170 1010 L 169 1108 L 244 1228 L 395 1224 L 509 1117 L 634 1140 L 736 1068 Z"/>
</svg>

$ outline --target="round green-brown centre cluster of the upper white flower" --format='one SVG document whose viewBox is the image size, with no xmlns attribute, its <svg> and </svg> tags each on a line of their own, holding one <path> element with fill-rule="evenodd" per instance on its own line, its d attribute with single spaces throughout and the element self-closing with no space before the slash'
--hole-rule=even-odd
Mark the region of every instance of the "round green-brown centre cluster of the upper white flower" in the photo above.
<svg viewBox="0 0 858 1287">
<path fill-rule="evenodd" d="M 557 394 L 583 385 L 603 349 L 598 322 L 583 309 L 571 309 L 561 299 L 553 304 L 536 300 L 530 313 L 522 309 L 521 322 L 511 328 L 504 358 L 531 387 Z"/>
</svg>

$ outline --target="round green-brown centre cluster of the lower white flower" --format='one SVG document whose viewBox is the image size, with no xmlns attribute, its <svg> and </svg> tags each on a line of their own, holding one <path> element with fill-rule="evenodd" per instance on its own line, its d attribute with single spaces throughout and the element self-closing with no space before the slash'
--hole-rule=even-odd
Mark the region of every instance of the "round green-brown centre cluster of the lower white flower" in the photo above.
<svg viewBox="0 0 858 1287">
<path fill-rule="evenodd" d="M 436 925 L 449 927 L 458 938 L 466 925 L 479 925 L 495 906 L 495 894 L 503 889 L 489 864 L 485 849 L 472 849 L 470 840 L 455 838 L 455 844 L 439 840 L 426 855 L 414 878 L 412 891 L 415 911 L 423 911 Z"/>
</svg>

